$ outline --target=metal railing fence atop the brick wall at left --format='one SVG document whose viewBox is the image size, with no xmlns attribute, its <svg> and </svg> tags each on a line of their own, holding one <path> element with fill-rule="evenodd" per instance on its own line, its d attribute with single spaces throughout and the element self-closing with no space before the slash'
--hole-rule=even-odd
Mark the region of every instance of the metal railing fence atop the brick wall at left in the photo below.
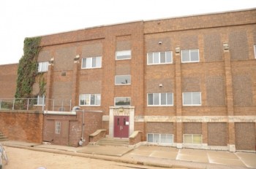
<svg viewBox="0 0 256 169">
<path fill-rule="evenodd" d="M 0 110 L 71 111 L 71 106 L 71 100 L 64 99 L 0 98 Z"/>
</svg>

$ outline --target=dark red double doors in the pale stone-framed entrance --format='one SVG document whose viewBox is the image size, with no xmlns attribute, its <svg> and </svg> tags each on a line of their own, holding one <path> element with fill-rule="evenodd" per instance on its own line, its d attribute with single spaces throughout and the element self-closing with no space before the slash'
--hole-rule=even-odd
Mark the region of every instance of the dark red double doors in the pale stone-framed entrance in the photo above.
<svg viewBox="0 0 256 169">
<path fill-rule="evenodd" d="M 114 137 L 128 138 L 129 137 L 129 116 L 114 117 Z"/>
</svg>

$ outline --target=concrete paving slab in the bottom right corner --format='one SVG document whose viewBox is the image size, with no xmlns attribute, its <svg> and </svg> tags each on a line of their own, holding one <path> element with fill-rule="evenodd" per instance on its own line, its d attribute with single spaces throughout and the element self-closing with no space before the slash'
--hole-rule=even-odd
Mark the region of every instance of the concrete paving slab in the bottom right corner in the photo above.
<svg viewBox="0 0 256 169">
<path fill-rule="evenodd" d="M 256 168 L 256 153 L 237 152 L 236 156 L 247 168 Z"/>
</svg>

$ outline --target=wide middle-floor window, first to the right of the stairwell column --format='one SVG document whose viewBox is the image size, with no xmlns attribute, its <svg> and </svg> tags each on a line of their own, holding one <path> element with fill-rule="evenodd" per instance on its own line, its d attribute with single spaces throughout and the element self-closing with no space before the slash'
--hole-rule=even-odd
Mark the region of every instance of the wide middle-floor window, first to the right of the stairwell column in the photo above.
<svg viewBox="0 0 256 169">
<path fill-rule="evenodd" d="M 148 106 L 173 106 L 173 93 L 148 94 Z"/>
</svg>

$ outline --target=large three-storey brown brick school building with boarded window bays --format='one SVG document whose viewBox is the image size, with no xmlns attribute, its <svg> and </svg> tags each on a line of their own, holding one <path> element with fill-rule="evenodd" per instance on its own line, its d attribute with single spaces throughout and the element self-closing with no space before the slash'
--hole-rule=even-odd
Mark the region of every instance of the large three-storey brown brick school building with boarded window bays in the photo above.
<svg viewBox="0 0 256 169">
<path fill-rule="evenodd" d="M 109 137 L 140 130 L 151 144 L 255 151 L 256 9 L 86 28 L 40 45 L 45 109 L 62 99 L 55 111 L 102 112 Z"/>
</svg>

